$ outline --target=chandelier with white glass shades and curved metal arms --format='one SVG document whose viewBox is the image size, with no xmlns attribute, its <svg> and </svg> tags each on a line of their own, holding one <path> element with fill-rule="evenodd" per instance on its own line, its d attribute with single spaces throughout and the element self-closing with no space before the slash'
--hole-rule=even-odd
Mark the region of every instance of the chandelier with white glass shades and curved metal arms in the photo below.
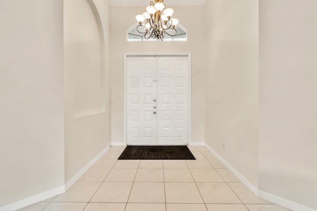
<svg viewBox="0 0 317 211">
<path fill-rule="evenodd" d="M 175 26 L 178 24 L 176 18 L 171 18 L 174 10 L 164 9 L 164 0 L 155 0 L 150 2 L 147 11 L 143 15 L 137 15 L 135 18 L 140 25 L 137 31 L 142 34 L 146 40 L 150 38 L 162 41 L 165 35 L 176 36 Z M 163 10 L 164 9 L 164 10 Z"/>
</svg>

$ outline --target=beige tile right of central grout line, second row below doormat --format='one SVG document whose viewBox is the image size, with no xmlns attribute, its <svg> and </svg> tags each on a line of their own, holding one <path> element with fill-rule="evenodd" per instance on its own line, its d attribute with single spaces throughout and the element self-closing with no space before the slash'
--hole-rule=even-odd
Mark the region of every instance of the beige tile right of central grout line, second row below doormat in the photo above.
<svg viewBox="0 0 317 211">
<path fill-rule="evenodd" d="M 164 169 L 165 182 L 194 182 L 189 169 Z"/>
</svg>

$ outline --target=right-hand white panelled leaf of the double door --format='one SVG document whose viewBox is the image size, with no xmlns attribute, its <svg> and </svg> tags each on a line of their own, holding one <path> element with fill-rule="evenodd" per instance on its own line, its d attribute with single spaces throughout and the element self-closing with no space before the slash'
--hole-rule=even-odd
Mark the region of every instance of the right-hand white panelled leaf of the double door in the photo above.
<svg viewBox="0 0 317 211">
<path fill-rule="evenodd" d="M 188 144 L 187 59 L 158 57 L 158 144 Z"/>
</svg>

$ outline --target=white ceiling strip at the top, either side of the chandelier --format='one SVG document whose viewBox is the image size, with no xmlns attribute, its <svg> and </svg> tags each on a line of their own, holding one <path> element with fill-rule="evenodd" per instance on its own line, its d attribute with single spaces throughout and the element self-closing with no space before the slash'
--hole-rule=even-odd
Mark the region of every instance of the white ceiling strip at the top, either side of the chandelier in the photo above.
<svg viewBox="0 0 317 211">
<path fill-rule="evenodd" d="M 151 0 L 109 0 L 110 6 L 148 6 Z M 154 1 L 154 0 L 153 0 Z M 164 0 L 166 6 L 200 6 L 207 0 Z"/>
</svg>

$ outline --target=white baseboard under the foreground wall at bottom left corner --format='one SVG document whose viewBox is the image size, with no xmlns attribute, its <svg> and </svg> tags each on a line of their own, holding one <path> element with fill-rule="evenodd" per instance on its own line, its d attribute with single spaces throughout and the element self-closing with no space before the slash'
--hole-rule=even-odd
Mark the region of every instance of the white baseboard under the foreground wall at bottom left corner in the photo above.
<svg viewBox="0 0 317 211">
<path fill-rule="evenodd" d="M 64 185 L 62 185 L 62 186 L 59 186 L 57 188 L 53 188 L 52 190 L 48 190 L 48 191 L 45 191 L 43 193 L 39 193 L 37 195 L 31 196 L 29 198 L 22 199 L 20 201 L 14 202 L 12 204 L 0 207 L 0 211 L 16 211 L 16 210 L 19 210 L 21 208 L 25 208 L 27 206 L 41 202 L 43 200 L 46 200 L 48 198 L 51 198 L 53 196 L 56 196 L 56 195 L 64 193 L 64 192 L 65 192 L 65 188 L 64 188 Z"/>
</svg>

